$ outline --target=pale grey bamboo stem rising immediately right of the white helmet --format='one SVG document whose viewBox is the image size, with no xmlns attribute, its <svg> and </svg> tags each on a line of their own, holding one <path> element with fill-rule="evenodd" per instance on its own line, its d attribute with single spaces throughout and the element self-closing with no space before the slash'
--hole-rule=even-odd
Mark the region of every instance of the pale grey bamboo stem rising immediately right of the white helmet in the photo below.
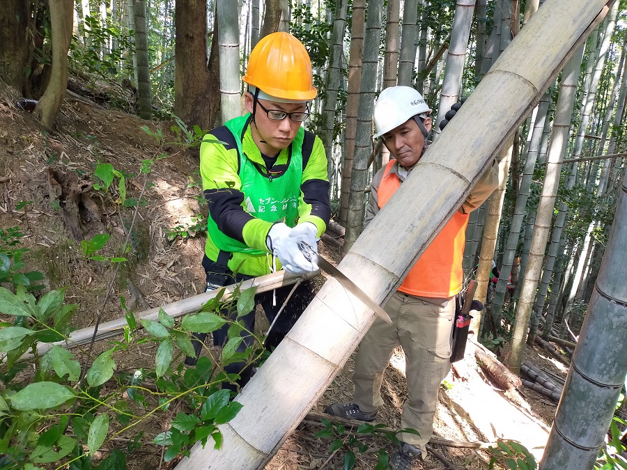
<svg viewBox="0 0 627 470">
<path fill-rule="evenodd" d="M 435 123 L 434 140 L 440 136 L 440 122 L 444 115 L 457 102 L 461 86 L 472 14 L 475 0 L 458 0 L 455 9 L 455 19 L 451 29 L 451 44 L 447 53 L 447 71 L 444 74 L 442 91 L 440 91 L 440 105 L 438 106 L 438 120 Z"/>
</svg>

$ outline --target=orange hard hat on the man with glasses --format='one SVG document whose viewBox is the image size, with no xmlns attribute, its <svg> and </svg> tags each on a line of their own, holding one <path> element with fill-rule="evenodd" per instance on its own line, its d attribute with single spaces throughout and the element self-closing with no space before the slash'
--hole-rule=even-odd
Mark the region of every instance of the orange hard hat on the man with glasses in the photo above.
<svg viewBox="0 0 627 470">
<path fill-rule="evenodd" d="M 313 100 L 318 93 L 307 49 L 289 33 L 272 33 L 257 43 L 243 80 L 285 100 Z"/>
</svg>

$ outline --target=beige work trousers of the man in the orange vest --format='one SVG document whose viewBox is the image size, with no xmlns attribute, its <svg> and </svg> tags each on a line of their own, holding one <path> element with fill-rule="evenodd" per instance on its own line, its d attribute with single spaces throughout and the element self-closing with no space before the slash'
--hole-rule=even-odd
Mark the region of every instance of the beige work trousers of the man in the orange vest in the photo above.
<svg viewBox="0 0 627 470">
<path fill-rule="evenodd" d="M 420 436 L 402 433 L 398 439 L 424 449 L 433 432 L 440 383 L 451 370 L 455 299 L 441 306 L 396 291 L 385 311 L 392 324 L 377 318 L 359 344 L 353 374 L 355 403 L 364 412 L 373 412 L 383 405 L 383 372 L 394 348 L 401 345 L 408 389 L 401 428 L 417 430 Z"/>
</svg>

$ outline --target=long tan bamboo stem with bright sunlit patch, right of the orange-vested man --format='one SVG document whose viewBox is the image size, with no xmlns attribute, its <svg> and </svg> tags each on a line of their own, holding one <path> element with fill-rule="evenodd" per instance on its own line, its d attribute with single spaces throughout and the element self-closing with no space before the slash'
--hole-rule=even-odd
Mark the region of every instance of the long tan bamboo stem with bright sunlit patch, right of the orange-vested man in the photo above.
<svg viewBox="0 0 627 470">
<path fill-rule="evenodd" d="M 555 207 L 555 196 L 559 185 L 559 171 L 562 169 L 562 159 L 568 143 L 568 132 L 571 129 L 571 116 L 575 104 L 575 91 L 579 80 L 583 47 L 576 52 L 566 64 L 562 72 L 562 85 L 557 100 L 557 110 L 555 111 L 555 121 L 553 122 L 553 133 L 551 145 L 548 153 L 548 164 L 542 195 L 536 214 L 534 224 L 534 234 L 531 248 L 529 249 L 529 259 L 525 269 L 525 277 L 522 280 L 520 290 L 520 302 L 516 312 L 516 320 L 513 324 L 511 337 L 511 351 L 507 358 L 507 366 L 514 373 L 520 372 L 522 363 L 522 352 L 525 350 L 525 340 L 527 340 L 527 327 L 529 317 L 534 306 L 536 285 L 542 269 L 544 250 L 548 231 L 550 229 L 553 207 Z"/>
</svg>

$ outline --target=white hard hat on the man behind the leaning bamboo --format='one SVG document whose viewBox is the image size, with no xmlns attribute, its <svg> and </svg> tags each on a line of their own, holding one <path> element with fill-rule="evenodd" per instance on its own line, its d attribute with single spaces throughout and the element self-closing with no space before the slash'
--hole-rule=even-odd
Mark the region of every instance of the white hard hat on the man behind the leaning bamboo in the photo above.
<svg viewBox="0 0 627 470">
<path fill-rule="evenodd" d="M 431 113 L 431 109 L 422 95 L 411 86 L 385 88 L 374 108 L 375 139 L 423 113 Z"/>
</svg>

